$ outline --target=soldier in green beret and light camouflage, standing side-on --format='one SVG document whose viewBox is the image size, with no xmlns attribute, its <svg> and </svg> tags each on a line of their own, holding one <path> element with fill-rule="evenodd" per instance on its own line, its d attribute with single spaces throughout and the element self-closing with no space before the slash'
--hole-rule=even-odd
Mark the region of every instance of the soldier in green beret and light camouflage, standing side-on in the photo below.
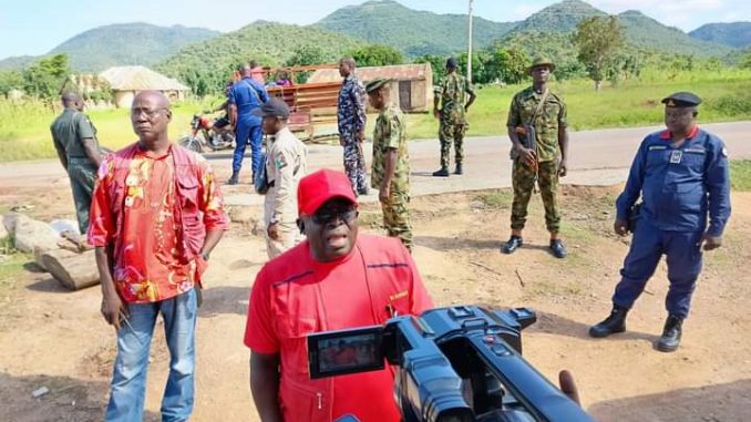
<svg viewBox="0 0 751 422">
<path fill-rule="evenodd" d="M 383 225 L 389 236 L 399 237 L 412 250 L 410 225 L 410 156 L 407 152 L 404 116 L 390 102 L 388 80 L 368 83 L 368 100 L 379 111 L 373 130 L 373 169 L 371 186 L 378 189 L 383 209 Z"/>
</svg>

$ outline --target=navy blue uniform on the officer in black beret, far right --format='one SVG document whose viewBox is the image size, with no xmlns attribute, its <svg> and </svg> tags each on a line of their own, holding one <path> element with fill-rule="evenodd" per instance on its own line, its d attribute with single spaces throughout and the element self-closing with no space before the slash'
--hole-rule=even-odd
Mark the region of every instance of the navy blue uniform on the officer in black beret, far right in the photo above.
<svg viewBox="0 0 751 422">
<path fill-rule="evenodd" d="M 730 217 L 730 177 L 719 137 L 695 126 L 679 147 L 673 148 L 671 140 L 670 132 L 662 131 L 641 142 L 616 202 L 623 220 L 639 196 L 642 206 L 613 302 L 630 308 L 666 255 L 666 308 L 685 319 L 701 271 L 701 237 L 722 236 Z"/>
</svg>

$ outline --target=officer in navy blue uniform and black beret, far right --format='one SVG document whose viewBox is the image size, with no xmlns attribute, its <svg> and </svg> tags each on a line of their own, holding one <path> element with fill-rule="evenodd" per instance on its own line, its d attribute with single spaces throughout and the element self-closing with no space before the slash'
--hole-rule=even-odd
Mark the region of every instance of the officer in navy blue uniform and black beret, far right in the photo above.
<svg viewBox="0 0 751 422">
<path fill-rule="evenodd" d="M 616 202 L 614 225 L 620 236 L 634 231 L 631 248 L 613 295 L 613 311 L 589 329 L 591 337 L 626 330 L 628 310 L 666 255 L 668 318 L 656 348 L 671 352 L 680 343 L 701 271 L 702 245 L 703 250 L 720 247 L 730 217 L 728 151 L 719 137 L 697 126 L 700 102 L 689 92 L 663 99 L 667 130 L 647 136 L 639 146 L 626 188 Z M 641 205 L 635 207 L 639 196 Z"/>
</svg>

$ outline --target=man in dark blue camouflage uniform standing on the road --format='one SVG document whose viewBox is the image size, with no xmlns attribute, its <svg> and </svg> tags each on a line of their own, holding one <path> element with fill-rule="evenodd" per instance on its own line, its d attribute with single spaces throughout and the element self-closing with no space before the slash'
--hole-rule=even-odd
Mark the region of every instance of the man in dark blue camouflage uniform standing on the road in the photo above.
<svg viewBox="0 0 751 422">
<path fill-rule="evenodd" d="M 344 173 L 356 194 L 368 195 L 366 157 L 362 154 L 367 120 L 366 90 L 354 75 L 354 59 L 341 59 L 339 74 L 344 78 L 337 106 L 339 144 L 344 147 Z"/>
</svg>

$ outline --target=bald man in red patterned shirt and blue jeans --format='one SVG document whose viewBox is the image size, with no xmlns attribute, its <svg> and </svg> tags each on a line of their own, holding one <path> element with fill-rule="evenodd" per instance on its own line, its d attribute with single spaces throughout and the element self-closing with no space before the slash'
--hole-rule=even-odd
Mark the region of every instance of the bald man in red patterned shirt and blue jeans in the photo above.
<svg viewBox="0 0 751 422">
<path fill-rule="evenodd" d="M 102 163 L 91 207 L 102 316 L 117 331 L 106 421 L 143 415 L 148 349 L 158 313 L 169 349 L 163 421 L 186 421 L 194 402 L 195 325 L 200 276 L 227 228 L 214 173 L 200 155 L 169 142 L 169 102 L 136 95 L 138 142 Z"/>
</svg>

